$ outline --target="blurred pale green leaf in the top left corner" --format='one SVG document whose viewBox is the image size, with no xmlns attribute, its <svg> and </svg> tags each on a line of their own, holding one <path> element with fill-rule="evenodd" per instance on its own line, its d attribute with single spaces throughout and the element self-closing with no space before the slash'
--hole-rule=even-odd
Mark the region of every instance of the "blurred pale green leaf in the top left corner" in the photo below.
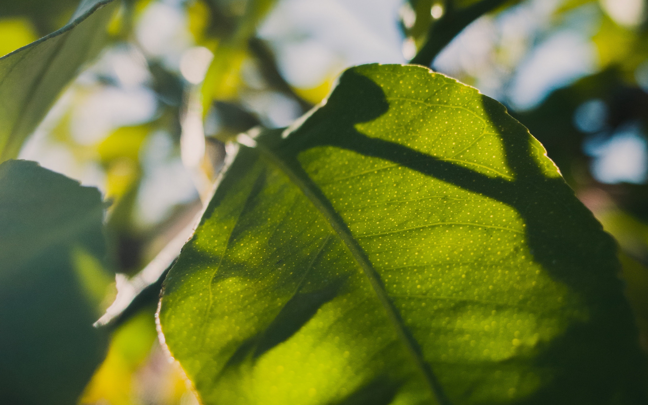
<svg viewBox="0 0 648 405">
<path fill-rule="evenodd" d="M 65 27 L 0 58 L 0 162 L 18 155 L 61 90 L 98 54 L 118 4 L 83 0 Z"/>
</svg>

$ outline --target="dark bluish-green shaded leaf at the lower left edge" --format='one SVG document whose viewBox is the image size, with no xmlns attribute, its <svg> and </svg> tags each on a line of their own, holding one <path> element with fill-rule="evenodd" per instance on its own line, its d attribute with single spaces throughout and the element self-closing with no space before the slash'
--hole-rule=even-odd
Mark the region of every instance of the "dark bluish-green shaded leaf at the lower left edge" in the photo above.
<svg viewBox="0 0 648 405">
<path fill-rule="evenodd" d="M 103 215 L 95 188 L 0 164 L 0 403 L 75 404 L 103 360 L 108 336 L 92 327 Z"/>
</svg>

